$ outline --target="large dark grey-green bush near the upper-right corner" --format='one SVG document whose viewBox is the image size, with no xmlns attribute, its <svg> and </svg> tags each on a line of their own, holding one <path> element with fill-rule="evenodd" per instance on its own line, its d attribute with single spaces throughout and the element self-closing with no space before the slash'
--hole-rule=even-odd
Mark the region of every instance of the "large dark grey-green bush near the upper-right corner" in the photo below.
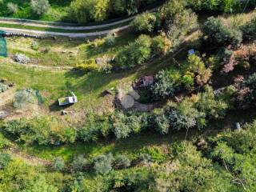
<svg viewBox="0 0 256 192">
<path fill-rule="evenodd" d="M 239 46 L 242 42 L 240 30 L 224 26 L 219 18 L 210 17 L 202 26 L 206 41 L 214 46 Z"/>
</svg>

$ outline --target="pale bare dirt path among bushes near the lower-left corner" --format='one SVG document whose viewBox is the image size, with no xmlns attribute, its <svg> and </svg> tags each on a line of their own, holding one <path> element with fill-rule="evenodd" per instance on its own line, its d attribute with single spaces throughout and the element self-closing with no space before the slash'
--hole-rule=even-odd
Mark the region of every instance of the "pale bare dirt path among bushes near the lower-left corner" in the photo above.
<svg viewBox="0 0 256 192">
<path fill-rule="evenodd" d="M 50 166 L 52 162 L 47 161 L 42 158 L 37 158 L 32 155 L 24 153 L 22 150 L 19 150 L 17 146 L 14 146 L 9 149 L 10 154 L 14 156 L 14 158 L 22 159 L 24 162 L 32 165 L 32 166 Z"/>
</svg>

